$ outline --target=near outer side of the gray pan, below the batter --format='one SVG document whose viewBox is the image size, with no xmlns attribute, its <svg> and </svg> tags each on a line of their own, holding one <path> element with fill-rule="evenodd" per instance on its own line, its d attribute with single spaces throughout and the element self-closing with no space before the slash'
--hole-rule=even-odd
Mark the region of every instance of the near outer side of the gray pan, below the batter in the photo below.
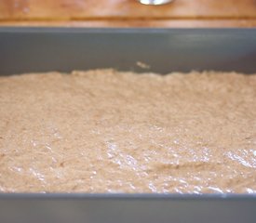
<svg viewBox="0 0 256 223">
<path fill-rule="evenodd" d="M 255 223 L 256 197 L 41 194 L 0 196 L 2 222 Z"/>
</svg>

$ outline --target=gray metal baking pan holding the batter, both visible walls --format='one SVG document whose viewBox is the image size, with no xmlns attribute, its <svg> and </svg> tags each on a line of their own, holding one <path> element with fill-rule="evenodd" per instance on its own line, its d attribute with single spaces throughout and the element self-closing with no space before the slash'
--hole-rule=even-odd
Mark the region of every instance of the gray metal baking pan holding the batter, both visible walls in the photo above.
<svg viewBox="0 0 256 223">
<path fill-rule="evenodd" d="M 0 75 L 110 67 L 256 72 L 256 30 L 0 28 Z M 256 194 L 2 193 L 0 222 L 255 223 Z"/>
</svg>

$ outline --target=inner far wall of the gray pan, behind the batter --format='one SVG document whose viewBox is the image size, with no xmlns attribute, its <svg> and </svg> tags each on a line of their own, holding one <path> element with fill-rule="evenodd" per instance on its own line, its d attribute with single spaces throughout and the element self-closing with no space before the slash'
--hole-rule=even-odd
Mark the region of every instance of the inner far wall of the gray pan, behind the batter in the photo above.
<svg viewBox="0 0 256 223">
<path fill-rule="evenodd" d="M 0 73 L 114 67 L 256 72 L 256 30 L 0 29 Z M 147 70 L 145 70 L 147 71 Z"/>
</svg>

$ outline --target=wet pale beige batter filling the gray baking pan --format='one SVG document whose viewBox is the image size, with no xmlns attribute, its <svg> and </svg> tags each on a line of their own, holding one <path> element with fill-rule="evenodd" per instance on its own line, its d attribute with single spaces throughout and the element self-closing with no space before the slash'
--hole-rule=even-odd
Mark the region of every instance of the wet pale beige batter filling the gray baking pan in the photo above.
<svg viewBox="0 0 256 223">
<path fill-rule="evenodd" d="M 256 192 L 256 75 L 1 77 L 0 191 Z"/>
</svg>

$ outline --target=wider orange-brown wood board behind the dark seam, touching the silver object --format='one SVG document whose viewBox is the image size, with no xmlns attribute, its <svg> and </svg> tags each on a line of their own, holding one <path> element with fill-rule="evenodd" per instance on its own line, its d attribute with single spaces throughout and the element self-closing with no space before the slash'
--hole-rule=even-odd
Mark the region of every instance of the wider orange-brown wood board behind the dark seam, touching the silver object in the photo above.
<svg viewBox="0 0 256 223">
<path fill-rule="evenodd" d="M 255 0 L 1 0 L 0 20 L 256 19 Z"/>
</svg>

